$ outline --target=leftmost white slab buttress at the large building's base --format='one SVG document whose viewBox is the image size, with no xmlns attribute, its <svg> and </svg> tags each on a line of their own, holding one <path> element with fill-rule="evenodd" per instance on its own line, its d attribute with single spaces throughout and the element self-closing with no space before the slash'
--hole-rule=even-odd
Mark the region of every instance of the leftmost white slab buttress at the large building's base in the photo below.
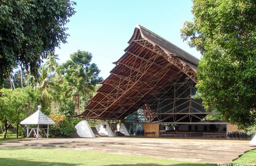
<svg viewBox="0 0 256 166">
<path fill-rule="evenodd" d="M 91 130 L 90 125 L 87 120 L 80 121 L 77 125 L 75 125 L 77 129 L 77 134 L 83 138 L 95 138 L 93 130 Z"/>
</svg>

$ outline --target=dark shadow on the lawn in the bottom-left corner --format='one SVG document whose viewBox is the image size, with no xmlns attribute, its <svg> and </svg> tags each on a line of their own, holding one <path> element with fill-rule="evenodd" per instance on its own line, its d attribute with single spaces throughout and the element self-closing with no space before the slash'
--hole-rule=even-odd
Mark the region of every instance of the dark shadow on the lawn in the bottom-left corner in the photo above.
<svg viewBox="0 0 256 166">
<path fill-rule="evenodd" d="M 31 161 L 27 159 L 16 159 L 16 158 L 0 158 L 0 165 L 4 166 L 13 166 L 13 165 L 26 165 L 26 166 L 77 166 L 81 164 L 67 164 L 67 163 L 58 163 L 58 162 L 46 162 L 46 161 Z"/>
</svg>

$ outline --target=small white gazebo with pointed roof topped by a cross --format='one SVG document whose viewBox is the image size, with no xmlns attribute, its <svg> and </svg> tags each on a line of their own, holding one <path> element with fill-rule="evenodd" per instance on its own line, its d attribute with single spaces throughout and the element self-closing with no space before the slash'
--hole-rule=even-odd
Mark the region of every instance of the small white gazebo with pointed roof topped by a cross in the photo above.
<svg viewBox="0 0 256 166">
<path fill-rule="evenodd" d="M 40 107 L 41 106 L 38 106 L 38 111 L 36 111 L 34 114 L 32 114 L 31 116 L 27 117 L 26 119 L 24 119 L 23 121 L 20 122 L 21 125 L 27 125 L 27 138 L 33 131 L 34 134 L 36 135 L 36 138 L 38 139 L 39 125 L 47 125 L 47 128 L 40 128 L 40 129 L 42 131 L 44 131 L 44 133 L 46 133 L 46 137 L 48 138 L 49 125 L 55 124 L 55 122 L 51 118 L 49 118 L 48 116 L 46 116 L 45 114 L 43 114 L 40 111 Z M 29 128 L 29 125 L 38 125 L 38 127 L 37 128 Z M 47 132 L 45 131 L 46 129 L 47 129 Z"/>
</svg>

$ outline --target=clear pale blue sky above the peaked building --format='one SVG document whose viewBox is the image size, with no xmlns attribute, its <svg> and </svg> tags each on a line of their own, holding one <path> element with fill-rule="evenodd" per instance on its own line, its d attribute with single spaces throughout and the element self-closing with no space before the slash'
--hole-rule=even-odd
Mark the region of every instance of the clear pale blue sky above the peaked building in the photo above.
<svg viewBox="0 0 256 166">
<path fill-rule="evenodd" d="M 184 21 L 192 21 L 191 0 L 75 0 L 75 15 L 65 26 L 67 43 L 55 49 L 59 63 L 70 59 L 77 50 L 93 55 L 92 62 L 104 79 L 128 46 L 137 24 L 200 59 L 196 49 L 183 42 L 179 29 Z"/>
</svg>

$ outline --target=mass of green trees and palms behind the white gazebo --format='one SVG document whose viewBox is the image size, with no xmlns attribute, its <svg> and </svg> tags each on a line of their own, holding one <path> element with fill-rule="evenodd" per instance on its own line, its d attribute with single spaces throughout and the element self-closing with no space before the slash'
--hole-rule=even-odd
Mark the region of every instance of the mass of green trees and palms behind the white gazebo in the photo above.
<svg viewBox="0 0 256 166">
<path fill-rule="evenodd" d="M 57 67 L 57 56 L 51 53 L 48 61 L 52 62 L 47 61 L 46 65 L 42 65 L 38 71 L 38 80 L 34 80 L 29 73 L 23 72 L 25 73 L 23 80 L 27 80 L 24 82 L 29 82 L 24 84 L 25 88 L 2 89 L 0 120 L 6 131 L 11 124 L 16 125 L 17 122 L 34 113 L 36 107 L 41 105 L 41 111 L 47 116 L 51 116 L 56 122 L 56 125 L 51 126 L 50 134 L 52 136 L 68 136 L 75 132 L 74 125 L 81 120 L 73 118 L 75 108 L 77 107 L 78 110 L 80 108 L 83 111 L 88 104 L 87 100 L 96 94 L 99 86 L 95 83 L 102 81 L 102 78 L 98 76 L 98 67 L 95 64 L 90 64 L 90 53 L 78 51 L 71 57 L 70 61 Z M 70 65 L 65 66 L 67 63 Z M 56 73 L 55 68 L 59 68 Z M 16 82 L 20 82 L 20 77 L 18 77 L 20 74 L 17 72 L 13 75 L 14 85 Z M 68 76 L 69 74 L 70 76 Z M 9 82 L 10 80 L 7 80 L 6 85 Z M 9 88 L 11 87 L 9 86 Z"/>
</svg>

